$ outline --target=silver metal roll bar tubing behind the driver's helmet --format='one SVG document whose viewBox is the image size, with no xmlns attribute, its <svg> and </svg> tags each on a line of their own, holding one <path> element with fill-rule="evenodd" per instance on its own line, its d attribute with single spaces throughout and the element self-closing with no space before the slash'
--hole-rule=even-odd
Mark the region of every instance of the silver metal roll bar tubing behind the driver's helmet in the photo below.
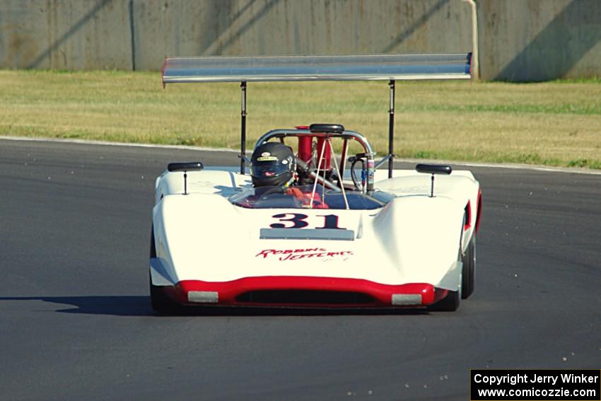
<svg viewBox="0 0 601 401">
<path fill-rule="evenodd" d="M 273 138 L 283 140 L 284 138 L 298 136 L 314 136 L 315 138 L 342 138 L 346 140 L 353 139 L 354 141 L 357 141 L 358 144 L 363 146 L 363 150 L 365 151 L 364 153 L 366 155 L 366 165 L 368 166 L 367 192 L 373 191 L 373 173 L 375 170 L 375 162 L 373 160 L 373 156 L 375 156 L 375 152 L 373 151 L 366 137 L 359 134 L 358 132 L 349 131 L 346 129 L 344 130 L 344 132 L 312 132 L 310 129 L 272 129 L 271 131 L 266 132 L 259 138 L 257 144 L 255 144 L 255 148 Z M 341 157 L 344 158 L 345 155 L 343 154 Z M 298 163 L 298 165 L 300 165 L 303 169 L 308 168 L 307 163 Z M 344 161 L 341 160 L 339 165 L 344 165 Z M 306 172 L 309 174 L 311 173 L 309 171 Z M 313 177 L 313 175 L 311 176 Z M 332 190 L 339 190 L 339 188 L 336 185 L 334 185 L 334 183 L 330 182 L 329 180 L 325 180 L 325 178 L 323 178 L 321 175 L 315 175 L 315 177 L 313 178 L 315 178 L 315 180 L 320 182 L 320 184 L 324 185 L 325 187 L 328 187 Z"/>
</svg>

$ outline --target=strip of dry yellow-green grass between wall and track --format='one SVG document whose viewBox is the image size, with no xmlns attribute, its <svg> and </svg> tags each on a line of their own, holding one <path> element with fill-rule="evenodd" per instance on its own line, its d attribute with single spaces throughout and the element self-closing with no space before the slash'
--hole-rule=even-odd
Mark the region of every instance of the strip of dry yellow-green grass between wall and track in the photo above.
<svg viewBox="0 0 601 401">
<path fill-rule="evenodd" d="M 240 87 L 161 87 L 159 73 L 0 71 L 0 135 L 238 149 Z M 273 128 L 335 122 L 387 149 L 385 82 L 249 83 L 247 146 Z M 601 80 L 397 82 L 402 158 L 601 169 Z"/>
</svg>

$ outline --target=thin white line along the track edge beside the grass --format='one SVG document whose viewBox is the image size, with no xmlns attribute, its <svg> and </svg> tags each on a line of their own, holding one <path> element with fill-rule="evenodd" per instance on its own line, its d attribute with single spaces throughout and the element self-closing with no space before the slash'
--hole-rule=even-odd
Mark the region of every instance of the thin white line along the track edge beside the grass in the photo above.
<svg viewBox="0 0 601 401">
<path fill-rule="evenodd" d="M 40 137 L 30 137 L 30 136 L 1 136 L 1 135 L 0 135 L 0 139 L 6 139 L 8 141 L 64 142 L 64 143 L 68 143 L 68 144 L 129 146 L 129 147 L 139 147 L 139 148 L 182 149 L 182 150 L 187 150 L 187 151 L 239 153 L 239 151 L 236 151 L 234 149 L 226 149 L 226 148 L 203 148 L 200 146 L 185 146 L 185 145 L 127 144 L 127 143 L 122 143 L 122 142 L 88 141 L 86 139 L 40 138 Z M 250 153 L 250 151 L 247 151 L 247 153 Z M 440 160 L 424 160 L 424 159 L 412 159 L 412 158 L 395 158 L 395 161 L 404 162 L 404 163 L 445 163 L 445 164 L 465 165 L 467 167 L 510 168 L 513 170 L 547 171 L 549 173 L 601 175 L 601 171 L 597 171 L 597 170 L 587 170 L 584 168 L 547 167 L 547 166 L 543 166 L 543 165 L 489 164 L 489 163 L 472 163 L 472 162 L 465 162 L 465 161 L 440 161 Z"/>
</svg>

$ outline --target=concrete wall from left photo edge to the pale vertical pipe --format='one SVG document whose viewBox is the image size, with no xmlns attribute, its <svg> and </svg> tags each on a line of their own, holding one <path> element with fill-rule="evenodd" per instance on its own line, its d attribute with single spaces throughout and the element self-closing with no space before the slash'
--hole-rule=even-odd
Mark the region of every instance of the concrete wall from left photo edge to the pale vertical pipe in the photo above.
<svg viewBox="0 0 601 401">
<path fill-rule="evenodd" d="M 461 0 L 4 0 L 0 66 L 161 69 L 163 57 L 469 52 Z"/>
</svg>

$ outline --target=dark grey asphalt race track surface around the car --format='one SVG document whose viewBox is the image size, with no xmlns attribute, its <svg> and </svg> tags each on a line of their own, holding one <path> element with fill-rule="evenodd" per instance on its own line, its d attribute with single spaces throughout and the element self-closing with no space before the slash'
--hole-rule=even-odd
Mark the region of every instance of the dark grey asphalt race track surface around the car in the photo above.
<svg viewBox="0 0 601 401">
<path fill-rule="evenodd" d="M 601 368 L 601 175 L 471 168 L 479 265 L 456 313 L 159 317 L 154 178 L 198 159 L 238 163 L 0 140 L 2 400 L 467 400 L 470 368 Z"/>
</svg>

